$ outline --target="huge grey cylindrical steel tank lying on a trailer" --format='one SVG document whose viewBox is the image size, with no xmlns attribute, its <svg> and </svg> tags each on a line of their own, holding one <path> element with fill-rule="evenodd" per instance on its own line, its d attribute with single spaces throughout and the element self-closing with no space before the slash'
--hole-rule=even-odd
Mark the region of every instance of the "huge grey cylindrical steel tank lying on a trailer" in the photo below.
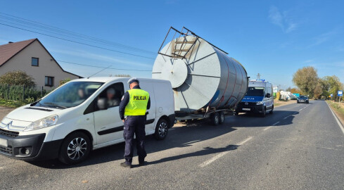
<svg viewBox="0 0 344 190">
<path fill-rule="evenodd" d="M 204 39 L 173 39 L 160 52 L 152 77 L 170 80 L 176 111 L 233 108 L 246 94 L 248 77 L 243 65 Z"/>
</svg>

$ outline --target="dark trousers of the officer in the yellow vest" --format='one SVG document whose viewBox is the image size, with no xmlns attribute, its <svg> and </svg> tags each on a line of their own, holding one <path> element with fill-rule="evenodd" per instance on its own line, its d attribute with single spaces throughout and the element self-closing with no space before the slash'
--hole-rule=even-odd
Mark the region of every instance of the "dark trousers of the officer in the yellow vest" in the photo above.
<svg viewBox="0 0 344 190">
<path fill-rule="evenodd" d="M 123 136 L 125 138 L 125 161 L 127 164 L 132 164 L 132 157 L 134 154 L 134 134 L 136 135 L 136 148 L 137 156 L 139 156 L 139 162 L 144 162 L 144 158 L 147 156 L 144 149 L 144 138 L 146 116 L 128 116 L 125 120 L 125 128 Z"/>
</svg>

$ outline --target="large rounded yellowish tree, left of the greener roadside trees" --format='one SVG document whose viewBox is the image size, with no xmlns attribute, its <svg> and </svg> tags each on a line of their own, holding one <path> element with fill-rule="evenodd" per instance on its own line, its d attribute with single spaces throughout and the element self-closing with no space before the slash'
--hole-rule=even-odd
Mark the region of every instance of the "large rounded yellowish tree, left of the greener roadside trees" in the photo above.
<svg viewBox="0 0 344 190">
<path fill-rule="evenodd" d="M 300 68 L 293 75 L 293 83 L 305 92 L 305 95 L 313 96 L 318 83 L 317 70 L 312 66 Z"/>
</svg>

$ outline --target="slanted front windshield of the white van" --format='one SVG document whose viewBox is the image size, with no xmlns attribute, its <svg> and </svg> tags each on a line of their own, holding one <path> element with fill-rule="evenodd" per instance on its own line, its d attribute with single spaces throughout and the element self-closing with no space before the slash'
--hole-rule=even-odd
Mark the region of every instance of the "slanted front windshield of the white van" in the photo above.
<svg viewBox="0 0 344 190">
<path fill-rule="evenodd" d="M 101 85 L 103 85 L 101 82 L 68 82 L 38 101 L 34 106 L 62 109 L 79 106 Z"/>
</svg>

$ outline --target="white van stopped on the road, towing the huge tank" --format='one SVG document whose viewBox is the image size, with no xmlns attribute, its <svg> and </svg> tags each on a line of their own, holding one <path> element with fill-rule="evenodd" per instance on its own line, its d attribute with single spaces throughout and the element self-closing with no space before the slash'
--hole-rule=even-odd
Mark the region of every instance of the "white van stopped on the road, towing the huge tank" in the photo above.
<svg viewBox="0 0 344 190">
<path fill-rule="evenodd" d="M 41 100 L 8 113 L 0 124 L 0 154 L 20 160 L 59 158 L 66 164 L 79 163 L 92 149 L 118 144 L 123 139 L 119 104 L 129 89 L 129 78 L 93 77 L 72 80 Z M 167 80 L 139 79 L 149 92 L 146 135 L 164 139 L 174 125 L 174 100 Z M 103 110 L 98 101 L 109 99 Z M 113 91 L 111 90 L 111 91 Z"/>
</svg>

